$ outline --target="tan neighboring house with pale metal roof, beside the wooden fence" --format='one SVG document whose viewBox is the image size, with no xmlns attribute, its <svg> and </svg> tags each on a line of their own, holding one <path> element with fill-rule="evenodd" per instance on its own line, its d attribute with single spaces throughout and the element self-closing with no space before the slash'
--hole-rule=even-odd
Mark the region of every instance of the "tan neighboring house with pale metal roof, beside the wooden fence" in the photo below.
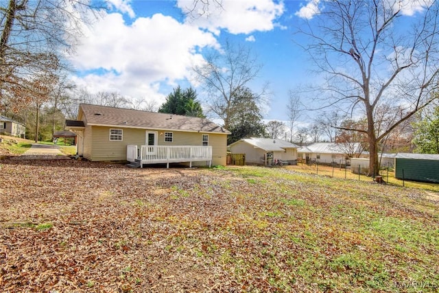
<svg viewBox="0 0 439 293">
<path fill-rule="evenodd" d="M 246 154 L 246 163 L 272 165 L 276 160 L 296 165 L 297 148 L 281 139 L 240 139 L 228 146 L 232 154 Z"/>
</svg>

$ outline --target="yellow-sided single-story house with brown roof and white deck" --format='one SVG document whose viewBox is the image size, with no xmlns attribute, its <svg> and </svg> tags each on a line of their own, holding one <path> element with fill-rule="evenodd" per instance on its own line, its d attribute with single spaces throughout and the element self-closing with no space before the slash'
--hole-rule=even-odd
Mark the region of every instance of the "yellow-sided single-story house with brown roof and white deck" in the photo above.
<svg viewBox="0 0 439 293">
<path fill-rule="evenodd" d="M 226 165 L 227 135 L 202 118 L 80 104 L 66 129 L 78 134 L 78 155 L 90 161 Z"/>
</svg>

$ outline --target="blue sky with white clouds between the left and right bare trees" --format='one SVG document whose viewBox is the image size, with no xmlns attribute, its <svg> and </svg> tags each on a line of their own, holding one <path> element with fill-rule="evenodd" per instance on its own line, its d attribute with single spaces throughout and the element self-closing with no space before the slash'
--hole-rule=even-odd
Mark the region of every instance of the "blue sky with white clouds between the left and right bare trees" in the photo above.
<svg viewBox="0 0 439 293">
<path fill-rule="evenodd" d="M 272 96 L 263 111 L 266 120 L 287 121 L 289 90 L 315 78 L 294 32 L 300 21 L 312 19 L 324 7 L 323 0 L 223 0 L 222 9 L 209 6 L 208 18 L 187 14 L 192 0 L 109 3 L 110 10 L 86 29 L 71 58 L 77 69 L 74 82 L 91 93 L 117 91 L 159 106 L 174 87 L 191 85 L 191 67 L 202 62 L 204 52 L 220 49 L 225 40 L 247 45 L 263 64 L 250 89 L 258 91 L 263 83 L 270 83 Z M 201 89 L 197 91 L 203 99 Z"/>
</svg>

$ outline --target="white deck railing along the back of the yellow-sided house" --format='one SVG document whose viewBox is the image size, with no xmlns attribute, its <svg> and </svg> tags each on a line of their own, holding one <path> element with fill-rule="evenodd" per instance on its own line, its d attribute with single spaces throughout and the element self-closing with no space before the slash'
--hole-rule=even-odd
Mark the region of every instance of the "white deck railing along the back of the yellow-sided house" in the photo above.
<svg viewBox="0 0 439 293">
<path fill-rule="evenodd" d="M 158 163 L 182 163 L 189 162 L 192 167 L 192 162 L 209 161 L 209 167 L 212 161 L 212 147 L 199 145 L 128 145 L 126 151 L 126 160 L 134 162 L 139 160 L 141 166 L 143 164 L 158 164 Z"/>
</svg>

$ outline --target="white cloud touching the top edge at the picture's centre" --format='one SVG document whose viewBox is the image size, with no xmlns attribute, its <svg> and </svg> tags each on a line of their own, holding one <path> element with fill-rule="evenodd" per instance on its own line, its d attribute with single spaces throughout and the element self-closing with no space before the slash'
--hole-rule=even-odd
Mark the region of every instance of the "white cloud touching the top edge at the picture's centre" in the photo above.
<svg viewBox="0 0 439 293">
<path fill-rule="evenodd" d="M 274 3 L 271 0 L 225 0 L 221 2 L 221 7 L 214 4 L 202 7 L 202 2 L 198 1 L 198 6 L 194 8 L 192 0 L 178 0 L 177 6 L 193 16 L 188 18 L 190 23 L 215 34 L 222 29 L 231 34 L 267 32 L 274 29 L 274 21 L 285 11 L 283 2 Z"/>
</svg>

